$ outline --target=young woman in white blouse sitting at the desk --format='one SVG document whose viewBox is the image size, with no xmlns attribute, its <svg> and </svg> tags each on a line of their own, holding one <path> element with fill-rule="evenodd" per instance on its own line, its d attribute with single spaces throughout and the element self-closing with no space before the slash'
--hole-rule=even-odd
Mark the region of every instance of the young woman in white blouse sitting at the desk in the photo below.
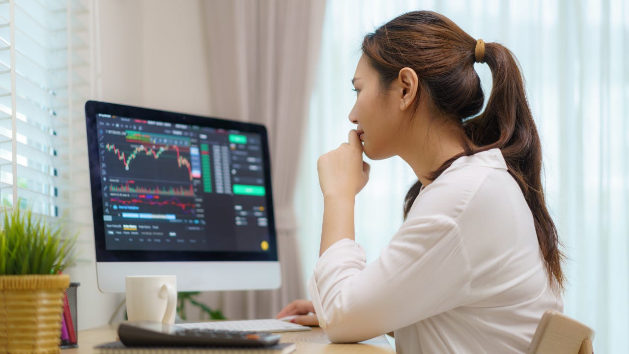
<svg viewBox="0 0 629 354">
<path fill-rule="evenodd" d="M 475 62 L 493 76 L 482 113 Z M 313 300 L 278 317 L 315 312 L 294 322 L 319 324 L 334 342 L 394 331 L 400 353 L 526 351 L 543 312 L 562 311 L 564 275 L 513 54 L 415 11 L 365 36 L 352 83 L 357 129 L 318 161 L 325 210 Z M 354 241 L 363 152 L 400 156 L 418 178 L 404 223 L 369 265 Z"/>
</svg>

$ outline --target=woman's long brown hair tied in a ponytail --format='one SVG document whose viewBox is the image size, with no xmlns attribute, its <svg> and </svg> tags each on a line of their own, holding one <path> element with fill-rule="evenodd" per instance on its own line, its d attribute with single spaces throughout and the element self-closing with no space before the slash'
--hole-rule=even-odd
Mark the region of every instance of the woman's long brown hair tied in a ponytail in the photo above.
<svg viewBox="0 0 629 354">
<path fill-rule="evenodd" d="M 518 182 L 533 214 L 537 241 L 549 280 L 564 288 L 557 228 L 548 213 L 542 186 L 542 147 L 528 106 L 520 67 L 499 43 L 486 43 L 484 62 L 493 87 L 485 111 L 481 80 L 474 70 L 476 40 L 442 14 L 413 11 L 402 14 L 365 36 L 362 52 L 387 89 L 400 69 L 410 67 L 420 78 L 419 94 L 432 108 L 460 123 L 464 152 L 445 161 L 428 176 L 435 180 L 456 159 L 498 148 L 509 173 Z M 415 108 L 419 103 L 415 100 Z M 470 142 L 472 144 L 470 144 Z M 421 188 L 418 180 L 404 198 L 404 219 Z"/>
</svg>

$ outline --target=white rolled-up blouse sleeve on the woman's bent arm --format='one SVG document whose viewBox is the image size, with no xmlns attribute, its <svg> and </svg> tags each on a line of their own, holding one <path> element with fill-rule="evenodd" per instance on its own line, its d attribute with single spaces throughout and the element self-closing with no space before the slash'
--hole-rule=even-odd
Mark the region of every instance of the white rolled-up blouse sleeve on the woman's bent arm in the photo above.
<svg viewBox="0 0 629 354">
<path fill-rule="evenodd" d="M 442 215 L 404 222 L 380 257 L 342 239 L 321 254 L 308 292 L 335 343 L 368 340 L 465 304 L 470 265 L 460 230 Z"/>
</svg>

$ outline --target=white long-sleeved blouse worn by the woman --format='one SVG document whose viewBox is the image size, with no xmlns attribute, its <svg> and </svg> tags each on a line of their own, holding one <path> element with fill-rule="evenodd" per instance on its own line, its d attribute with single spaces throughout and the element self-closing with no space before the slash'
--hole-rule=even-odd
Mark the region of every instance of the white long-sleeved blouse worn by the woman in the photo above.
<svg viewBox="0 0 629 354">
<path fill-rule="evenodd" d="M 543 312 L 563 311 L 499 149 L 460 157 L 422 188 L 369 265 L 355 241 L 330 246 L 308 291 L 331 341 L 395 331 L 398 353 L 522 353 Z"/>
</svg>

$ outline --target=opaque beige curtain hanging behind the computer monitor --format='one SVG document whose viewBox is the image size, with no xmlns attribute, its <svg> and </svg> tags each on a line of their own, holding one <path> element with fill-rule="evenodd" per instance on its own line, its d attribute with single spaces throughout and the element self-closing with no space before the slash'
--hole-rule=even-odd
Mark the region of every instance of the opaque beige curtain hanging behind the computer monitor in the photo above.
<svg viewBox="0 0 629 354">
<path fill-rule="evenodd" d="M 201 1 L 211 115 L 263 123 L 269 134 L 279 290 L 223 292 L 231 319 L 272 318 L 303 297 L 293 195 L 325 3 Z M 204 294 L 206 299 L 215 294 Z M 211 300 L 211 299 L 209 299 Z"/>
</svg>

